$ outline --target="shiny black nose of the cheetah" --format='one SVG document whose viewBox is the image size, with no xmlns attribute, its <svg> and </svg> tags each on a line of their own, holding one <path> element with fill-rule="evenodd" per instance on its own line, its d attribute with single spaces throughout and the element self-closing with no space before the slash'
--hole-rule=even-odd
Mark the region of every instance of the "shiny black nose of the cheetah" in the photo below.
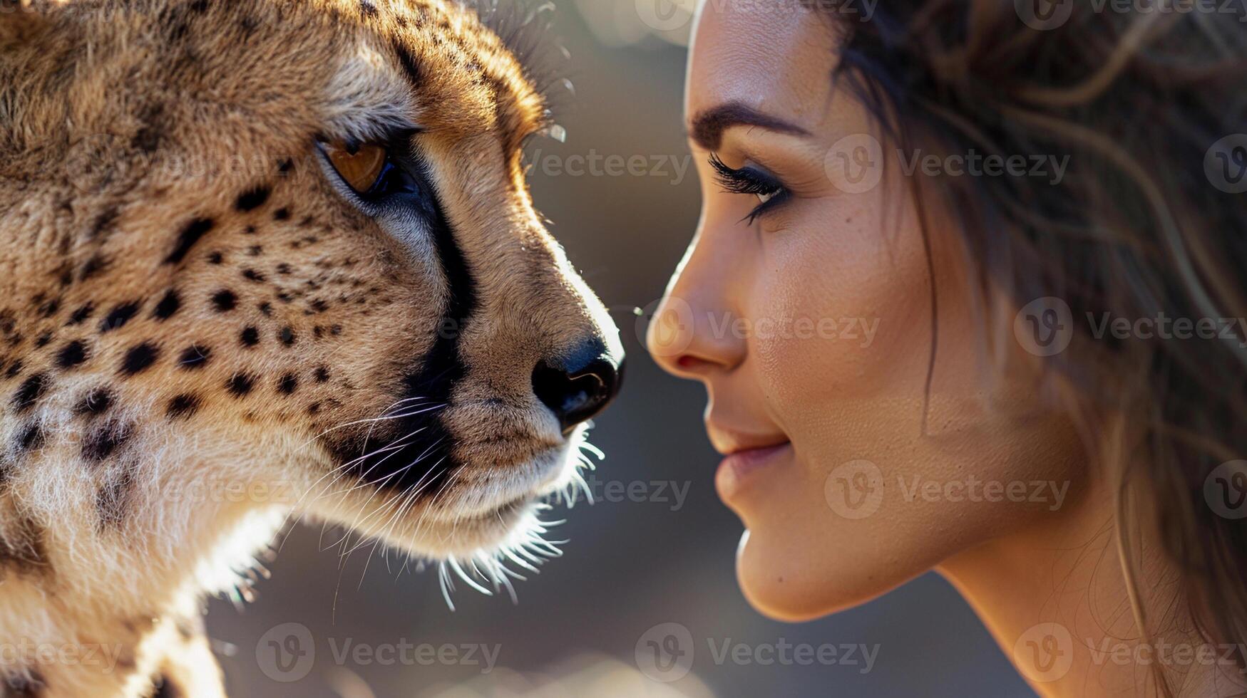
<svg viewBox="0 0 1247 698">
<path fill-rule="evenodd" d="M 622 356 L 611 356 L 599 340 L 532 369 L 532 391 L 559 418 L 564 434 L 606 409 L 622 381 Z"/>
</svg>

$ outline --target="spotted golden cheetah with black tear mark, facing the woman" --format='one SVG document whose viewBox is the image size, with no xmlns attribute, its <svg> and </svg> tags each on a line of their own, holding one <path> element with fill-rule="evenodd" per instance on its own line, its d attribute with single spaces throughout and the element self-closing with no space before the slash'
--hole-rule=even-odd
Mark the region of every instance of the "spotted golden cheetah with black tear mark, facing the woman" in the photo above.
<svg viewBox="0 0 1247 698">
<path fill-rule="evenodd" d="M 624 353 L 508 16 L 0 0 L 6 696 L 224 696 L 203 600 L 304 517 L 483 588 L 549 548 Z"/>
</svg>

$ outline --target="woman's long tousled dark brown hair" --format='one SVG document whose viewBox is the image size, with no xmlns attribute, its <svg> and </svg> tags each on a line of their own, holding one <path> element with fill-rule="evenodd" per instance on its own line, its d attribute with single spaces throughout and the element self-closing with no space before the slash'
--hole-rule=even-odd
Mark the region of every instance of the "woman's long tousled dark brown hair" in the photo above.
<svg viewBox="0 0 1247 698">
<path fill-rule="evenodd" d="M 843 34 L 834 80 L 899 147 L 1070 156 L 1059 183 L 910 178 L 927 188 L 920 199 L 949 209 L 980 290 L 1004 289 L 1015 308 L 1056 297 L 1074 318 L 1247 317 L 1247 193 L 1231 193 L 1206 167 L 1247 160 L 1241 4 L 1178 12 L 1157 9 L 1163 2 L 1148 11 L 1081 0 L 889 0 L 863 17 L 845 1 L 802 2 Z M 1055 19 L 1028 15 L 1035 9 Z M 1155 533 L 1181 577 L 1177 602 L 1190 603 L 1206 638 L 1241 648 L 1247 519 L 1218 515 L 1205 486 L 1222 464 L 1247 459 L 1245 328 L 1186 342 L 1104 337 L 1086 353 L 1076 348 L 1091 340 L 1087 323 L 1074 325 L 1082 337 L 1045 361 L 1076 386 L 1080 421 L 1100 452 L 1114 454 L 1102 465 L 1120 492 L 1127 580 L 1140 576 L 1139 537 Z M 1119 415 L 1125 429 L 1102 415 Z M 1132 598 L 1147 637 L 1140 591 L 1151 590 Z M 1158 669 L 1155 678 L 1172 693 Z"/>
</svg>

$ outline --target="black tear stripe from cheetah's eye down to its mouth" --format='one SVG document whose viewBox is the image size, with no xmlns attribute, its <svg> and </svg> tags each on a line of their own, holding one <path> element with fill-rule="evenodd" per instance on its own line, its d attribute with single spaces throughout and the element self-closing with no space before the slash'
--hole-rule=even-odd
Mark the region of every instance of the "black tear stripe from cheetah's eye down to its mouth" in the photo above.
<svg viewBox="0 0 1247 698">
<path fill-rule="evenodd" d="M 429 199 L 431 209 L 425 214 L 431 223 L 433 242 L 441 272 L 445 274 L 449 297 L 439 327 L 463 328 L 476 312 L 476 279 L 455 241 L 454 229 L 448 223 L 440 203 L 431 196 L 431 187 Z M 404 379 L 403 396 L 419 399 L 420 404 L 445 404 L 455 385 L 468 373 L 468 366 L 459 353 L 461 333 L 436 334 L 433 347 L 416 364 L 420 368 Z M 353 437 L 338 436 L 335 442 L 327 445 L 340 462 L 355 461 L 362 455 L 370 454 L 352 465 L 355 475 L 367 482 L 398 492 L 415 491 L 419 487 L 419 496 L 433 497 L 441 490 L 446 479 L 461 466 L 451 455 L 454 441 L 439 411 L 429 410 L 390 420 L 384 433 L 374 429 Z M 378 452 L 379 449 L 389 446 L 394 439 L 413 431 L 416 434 L 405 439 L 402 449 Z"/>
</svg>

